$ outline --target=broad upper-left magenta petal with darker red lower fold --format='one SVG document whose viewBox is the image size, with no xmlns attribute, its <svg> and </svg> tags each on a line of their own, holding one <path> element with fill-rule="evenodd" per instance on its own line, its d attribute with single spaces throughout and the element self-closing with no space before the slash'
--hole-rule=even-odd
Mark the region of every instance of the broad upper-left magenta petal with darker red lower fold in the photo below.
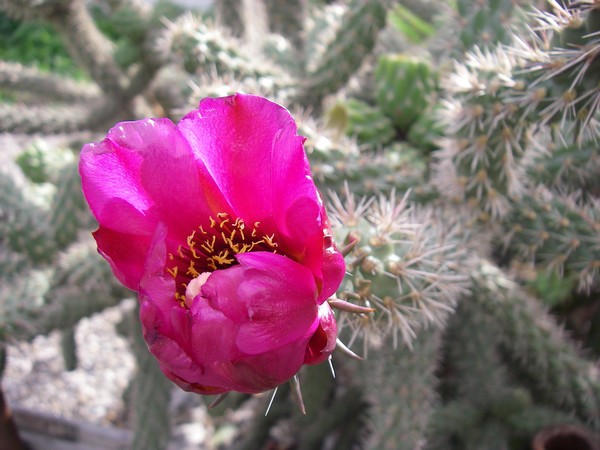
<svg viewBox="0 0 600 450">
<path fill-rule="evenodd" d="M 102 142 L 83 147 L 79 170 L 84 195 L 100 224 L 99 250 L 134 290 L 159 222 L 181 241 L 213 208 L 228 208 L 168 119 L 118 124 Z"/>
</svg>

